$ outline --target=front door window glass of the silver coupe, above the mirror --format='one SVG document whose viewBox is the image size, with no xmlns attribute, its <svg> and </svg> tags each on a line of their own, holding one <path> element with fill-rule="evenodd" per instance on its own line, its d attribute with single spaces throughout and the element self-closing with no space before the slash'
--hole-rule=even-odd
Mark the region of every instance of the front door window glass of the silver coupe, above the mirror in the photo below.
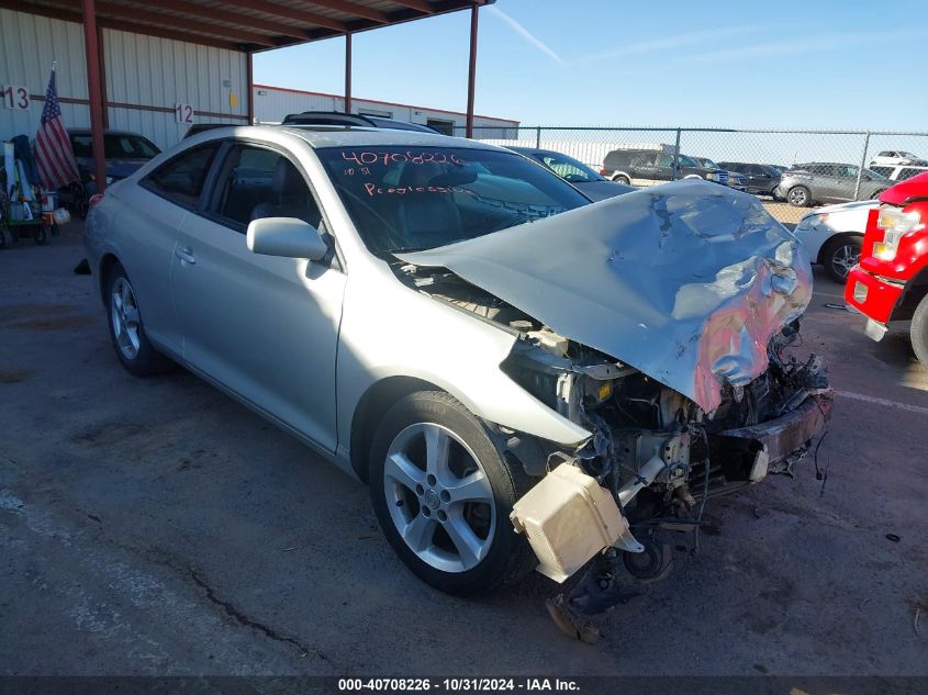
<svg viewBox="0 0 928 695">
<path fill-rule="evenodd" d="M 213 214 L 245 232 L 251 220 L 298 217 L 318 228 L 322 213 L 303 175 L 287 157 L 256 145 L 230 150 L 216 182 Z"/>
</svg>

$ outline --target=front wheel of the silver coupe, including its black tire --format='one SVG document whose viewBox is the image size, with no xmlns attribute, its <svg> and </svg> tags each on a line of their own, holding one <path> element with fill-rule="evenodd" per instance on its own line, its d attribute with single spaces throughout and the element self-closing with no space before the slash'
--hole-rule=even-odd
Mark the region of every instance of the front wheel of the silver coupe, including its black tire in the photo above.
<svg viewBox="0 0 928 695">
<path fill-rule="evenodd" d="M 448 594 L 489 592 L 534 567 L 508 518 L 526 478 L 441 391 L 401 399 L 371 446 L 370 494 L 387 540 L 416 576 Z"/>
</svg>

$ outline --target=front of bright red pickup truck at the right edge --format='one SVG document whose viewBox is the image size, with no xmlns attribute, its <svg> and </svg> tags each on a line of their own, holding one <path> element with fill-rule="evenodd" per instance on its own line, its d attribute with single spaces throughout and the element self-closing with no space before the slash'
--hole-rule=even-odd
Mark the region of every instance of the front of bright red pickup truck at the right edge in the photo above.
<svg viewBox="0 0 928 695">
<path fill-rule="evenodd" d="M 886 189 L 880 203 L 868 218 L 845 300 L 866 316 L 864 330 L 874 340 L 891 321 L 912 321 L 912 346 L 928 367 L 928 173 Z"/>
</svg>

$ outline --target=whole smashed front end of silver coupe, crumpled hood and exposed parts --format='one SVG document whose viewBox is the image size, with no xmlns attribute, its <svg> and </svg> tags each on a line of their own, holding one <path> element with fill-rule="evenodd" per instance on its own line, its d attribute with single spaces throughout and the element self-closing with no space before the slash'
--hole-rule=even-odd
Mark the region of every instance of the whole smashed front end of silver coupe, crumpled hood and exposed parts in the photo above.
<svg viewBox="0 0 928 695">
<path fill-rule="evenodd" d="M 656 528 L 791 473 L 830 417 L 821 359 L 793 355 L 808 258 L 756 198 L 675 182 L 400 258 L 411 285 L 516 335 L 501 369 L 591 433 L 564 450 L 492 425 L 541 477 L 512 522 L 558 582 L 593 558 L 600 590 L 619 561 L 660 576 Z"/>
</svg>

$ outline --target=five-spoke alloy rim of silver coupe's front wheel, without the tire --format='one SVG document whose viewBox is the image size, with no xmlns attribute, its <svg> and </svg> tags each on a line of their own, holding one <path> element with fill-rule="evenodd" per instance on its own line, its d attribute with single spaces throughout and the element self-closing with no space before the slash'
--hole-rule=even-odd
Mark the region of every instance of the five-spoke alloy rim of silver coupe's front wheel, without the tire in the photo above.
<svg viewBox="0 0 928 695">
<path fill-rule="evenodd" d="M 467 572 L 487 557 L 496 526 L 493 490 L 473 451 L 434 423 L 393 439 L 383 467 L 390 517 L 406 546 L 431 567 Z"/>
</svg>

